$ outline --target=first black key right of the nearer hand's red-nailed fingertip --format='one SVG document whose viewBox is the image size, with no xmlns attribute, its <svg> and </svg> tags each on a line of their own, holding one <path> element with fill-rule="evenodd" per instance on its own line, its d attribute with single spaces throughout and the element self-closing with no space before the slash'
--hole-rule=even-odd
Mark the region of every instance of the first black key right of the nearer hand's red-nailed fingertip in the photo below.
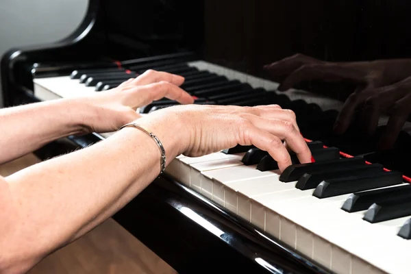
<svg viewBox="0 0 411 274">
<path fill-rule="evenodd" d="M 279 176 L 281 182 L 297 181 L 304 173 L 312 173 L 316 171 L 336 171 L 338 169 L 345 169 L 349 166 L 364 165 L 365 160 L 359 157 L 343 158 L 327 162 L 313 162 L 306 164 L 293 164 L 288 166 Z"/>
</svg>

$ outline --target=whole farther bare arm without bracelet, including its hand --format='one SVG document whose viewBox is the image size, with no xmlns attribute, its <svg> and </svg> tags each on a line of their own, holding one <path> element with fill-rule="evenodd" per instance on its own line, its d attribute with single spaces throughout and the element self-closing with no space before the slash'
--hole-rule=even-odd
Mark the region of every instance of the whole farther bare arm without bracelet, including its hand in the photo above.
<svg viewBox="0 0 411 274">
<path fill-rule="evenodd" d="M 147 71 L 118 88 L 79 99 L 58 99 L 0 110 L 0 163 L 73 134 L 112 132 L 138 118 L 136 108 L 162 97 L 193 99 L 179 75 Z"/>
</svg>

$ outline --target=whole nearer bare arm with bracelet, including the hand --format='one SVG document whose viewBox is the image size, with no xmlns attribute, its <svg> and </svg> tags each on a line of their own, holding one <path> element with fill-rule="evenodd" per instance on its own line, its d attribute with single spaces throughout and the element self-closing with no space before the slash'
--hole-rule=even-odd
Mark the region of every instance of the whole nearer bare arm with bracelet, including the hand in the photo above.
<svg viewBox="0 0 411 274">
<path fill-rule="evenodd" d="M 203 155 L 256 145 L 284 170 L 294 151 L 311 154 L 292 112 L 278 106 L 181 106 L 159 110 L 138 123 L 176 155 Z M 22 273 L 55 249 L 82 236 L 138 195 L 160 171 L 160 151 L 139 129 L 125 128 L 92 147 L 0 179 L 0 272 Z"/>
</svg>

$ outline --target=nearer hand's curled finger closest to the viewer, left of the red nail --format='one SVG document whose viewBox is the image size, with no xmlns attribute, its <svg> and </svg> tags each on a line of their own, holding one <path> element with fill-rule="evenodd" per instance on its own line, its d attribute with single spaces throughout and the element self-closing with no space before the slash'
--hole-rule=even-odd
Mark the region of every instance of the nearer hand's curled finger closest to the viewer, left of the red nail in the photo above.
<svg viewBox="0 0 411 274">
<path fill-rule="evenodd" d="M 259 149 L 269 152 L 271 157 L 277 162 L 281 172 L 292 164 L 290 153 L 288 153 L 282 144 L 282 140 L 277 136 L 253 125 L 249 126 L 245 132 L 247 132 L 246 138 L 249 141 L 240 145 L 254 145 Z"/>
</svg>

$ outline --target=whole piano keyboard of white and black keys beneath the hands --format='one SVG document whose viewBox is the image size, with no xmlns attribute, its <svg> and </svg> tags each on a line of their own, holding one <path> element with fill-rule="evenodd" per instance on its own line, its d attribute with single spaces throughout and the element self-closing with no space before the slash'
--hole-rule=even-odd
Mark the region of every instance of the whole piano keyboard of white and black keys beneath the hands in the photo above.
<svg viewBox="0 0 411 274">
<path fill-rule="evenodd" d="M 135 73 L 156 69 L 186 77 L 182 88 L 198 98 L 195 103 L 278 103 L 288 108 L 303 100 L 304 109 L 312 111 L 315 119 L 342 106 L 340 101 L 302 90 L 281 94 L 277 83 L 203 61 L 166 60 L 127 69 L 36 78 L 34 95 L 45 101 L 92 94 L 114 88 L 136 77 Z M 161 99 L 138 112 L 147 114 L 174 104 Z M 386 118 L 380 119 L 379 125 L 384 124 Z M 269 155 L 255 147 L 197 158 L 180 155 L 166 174 L 335 273 L 410 272 L 411 186 L 403 183 L 401 173 L 383 171 L 381 165 L 366 164 L 361 158 L 341 158 L 338 149 L 325 149 L 321 142 L 309 144 L 316 162 L 295 162 L 283 174 Z"/>
</svg>

